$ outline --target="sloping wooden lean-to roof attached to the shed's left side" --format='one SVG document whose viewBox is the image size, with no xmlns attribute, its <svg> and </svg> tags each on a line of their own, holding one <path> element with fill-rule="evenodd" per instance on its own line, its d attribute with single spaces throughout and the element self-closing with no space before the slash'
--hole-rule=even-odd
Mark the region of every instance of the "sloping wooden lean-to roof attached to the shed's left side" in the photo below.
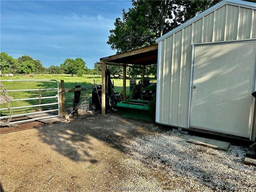
<svg viewBox="0 0 256 192">
<path fill-rule="evenodd" d="M 100 58 L 100 61 L 122 64 L 151 65 L 157 64 L 157 56 L 158 44 L 155 44 L 125 53 Z"/>
</svg>

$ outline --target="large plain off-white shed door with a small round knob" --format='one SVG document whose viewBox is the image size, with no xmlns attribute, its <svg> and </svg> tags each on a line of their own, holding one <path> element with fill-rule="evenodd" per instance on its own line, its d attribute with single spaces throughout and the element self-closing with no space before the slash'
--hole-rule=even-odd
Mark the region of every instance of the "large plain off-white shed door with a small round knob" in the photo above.
<svg viewBox="0 0 256 192">
<path fill-rule="evenodd" d="M 256 41 L 194 46 L 190 127 L 249 137 Z"/>
</svg>

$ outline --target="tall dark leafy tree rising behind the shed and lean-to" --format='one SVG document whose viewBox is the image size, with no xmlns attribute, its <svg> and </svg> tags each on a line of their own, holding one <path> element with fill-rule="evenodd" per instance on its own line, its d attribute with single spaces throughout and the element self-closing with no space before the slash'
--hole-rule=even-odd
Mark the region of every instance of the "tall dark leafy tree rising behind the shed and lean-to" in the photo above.
<svg viewBox="0 0 256 192">
<path fill-rule="evenodd" d="M 150 46 L 163 34 L 218 2 L 220 0 L 132 0 L 133 7 L 122 10 L 122 19 L 116 18 L 107 43 L 117 53 Z M 156 65 L 148 68 L 156 76 Z"/>
</svg>

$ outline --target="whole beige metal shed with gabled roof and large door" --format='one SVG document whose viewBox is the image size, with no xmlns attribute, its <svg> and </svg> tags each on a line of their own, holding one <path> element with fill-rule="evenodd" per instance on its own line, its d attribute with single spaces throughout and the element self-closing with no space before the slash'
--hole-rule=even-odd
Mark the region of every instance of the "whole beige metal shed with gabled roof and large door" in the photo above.
<svg viewBox="0 0 256 192">
<path fill-rule="evenodd" d="M 156 122 L 256 137 L 256 4 L 222 1 L 158 38 Z"/>
</svg>

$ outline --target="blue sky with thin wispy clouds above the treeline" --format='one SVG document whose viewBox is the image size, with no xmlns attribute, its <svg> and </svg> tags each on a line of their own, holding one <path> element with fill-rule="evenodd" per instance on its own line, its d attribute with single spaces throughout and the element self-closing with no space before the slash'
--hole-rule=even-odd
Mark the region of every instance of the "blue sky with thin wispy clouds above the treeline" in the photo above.
<svg viewBox="0 0 256 192">
<path fill-rule="evenodd" d="M 106 42 L 130 1 L 0 1 L 0 51 L 43 66 L 81 57 L 88 68 L 115 54 Z"/>
</svg>

